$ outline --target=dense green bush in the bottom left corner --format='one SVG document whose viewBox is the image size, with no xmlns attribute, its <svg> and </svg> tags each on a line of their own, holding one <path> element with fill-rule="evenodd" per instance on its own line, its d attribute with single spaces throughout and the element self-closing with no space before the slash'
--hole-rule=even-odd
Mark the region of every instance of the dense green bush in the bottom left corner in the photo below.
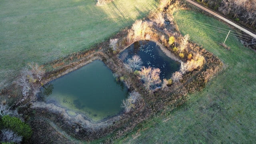
<svg viewBox="0 0 256 144">
<path fill-rule="evenodd" d="M 2 117 L 0 123 L 3 128 L 10 129 L 13 132 L 16 132 L 19 136 L 23 136 L 24 140 L 28 140 L 32 135 L 30 126 L 22 122 L 19 118 L 6 115 Z"/>
</svg>

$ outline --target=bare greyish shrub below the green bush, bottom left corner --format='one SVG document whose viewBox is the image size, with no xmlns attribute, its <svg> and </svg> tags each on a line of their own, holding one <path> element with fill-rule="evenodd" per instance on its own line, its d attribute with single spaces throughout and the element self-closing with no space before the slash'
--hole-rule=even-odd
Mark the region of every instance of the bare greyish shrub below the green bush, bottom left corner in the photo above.
<svg viewBox="0 0 256 144">
<path fill-rule="evenodd" d="M 3 129 L 1 130 L 1 132 L 2 134 L 0 135 L 0 142 L 20 144 L 20 142 L 22 141 L 22 136 L 18 136 L 18 134 L 14 133 L 10 129 Z"/>
</svg>

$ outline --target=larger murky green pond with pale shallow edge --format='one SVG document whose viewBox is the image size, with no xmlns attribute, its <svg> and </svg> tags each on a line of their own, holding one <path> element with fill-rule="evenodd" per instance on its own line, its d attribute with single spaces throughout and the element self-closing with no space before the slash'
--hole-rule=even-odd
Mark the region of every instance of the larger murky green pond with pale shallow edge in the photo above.
<svg viewBox="0 0 256 144">
<path fill-rule="evenodd" d="M 128 89 L 116 82 L 112 71 L 100 60 L 86 64 L 41 88 L 40 98 L 67 109 L 70 116 L 85 114 L 93 121 L 122 112 Z"/>
</svg>

